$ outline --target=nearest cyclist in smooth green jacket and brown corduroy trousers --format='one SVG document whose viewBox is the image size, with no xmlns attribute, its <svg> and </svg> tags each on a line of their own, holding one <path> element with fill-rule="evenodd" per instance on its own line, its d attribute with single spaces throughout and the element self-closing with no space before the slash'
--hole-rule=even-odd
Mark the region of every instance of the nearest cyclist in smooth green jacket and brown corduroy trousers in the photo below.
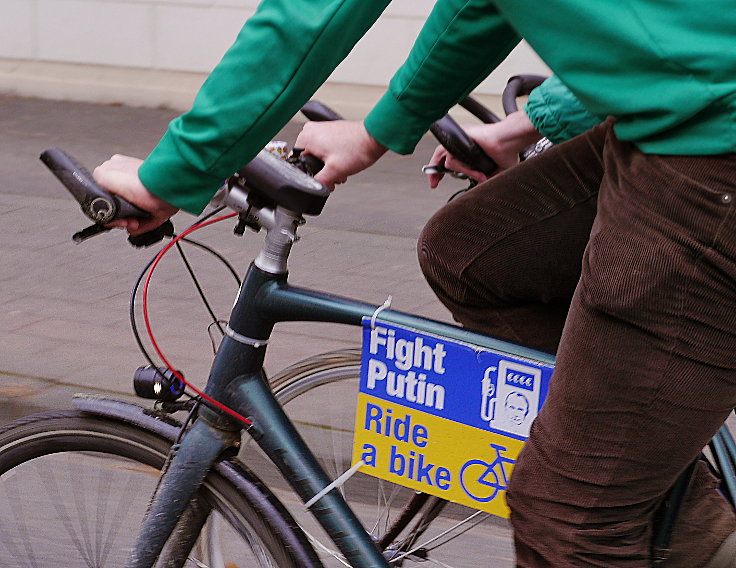
<svg viewBox="0 0 736 568">
<path fill-rule="evenodd" d="M 154 213 L 149 224 L 121 225 L 140 232 L 171 214 L 166 204 L 201 210 L 386 4 L 263 2 L 192 111 L 172 123 L 146 161 L 116 158 L 97 170 L 104 185 Z M 481 288 L 452 290 L 459 293 L 447 300 L 467 301 L 474 312 L 487 304 L 475 305 L 473 293 L 496 294 L 490 299 L 500 307 L 473 321 L 541 344 L 539 326 L 554 314 L 564 319 L 565 301 L 544 290 L 536 305 L 506 309 L 512 287 L 503 280 L 520 271 L 506 269 L 522 267 L 529 287 L 521 291 L 534 298 L 545 279 L 555 280 L 540 267 L 550 250 L 560 258 L 568 247 L 569 265 L 582 256 L 588 235 L 581 227 L 590 226 L 591 213 L 581 211 L 597 201 L 554 384 L 509 493 L 519 566 L 646 565 L 652 511 L 736 405 L 731 4 L 440 0 L 364 123 L 325 125 L 302 139 L 326 162 L 321 180 L 328 184 L 367 167 L 386 148 L 410 152 L 520 36 L 583 108 L 615 117 L 615 125 L 608 120 L 458 199 L 499 192 L 489 203 L 505 207 L 465 211 L 456 217 L 456 234 L 448 235 L 454 241 L 447 248 L 464 255 L 462 274 L 476 268 L 472 254 L 499 238 L 516 241 L 521 257 L 507 250 Z M 469 213 L 485 224 L 473 224 Z M 575 228 L 563 232 L 566 220 Z M 518 230 L 509 231 L 514 223 Z M 530 227 L 536 243 L 525 236 Z M 423 254 L 432 259 L 434 252 Z M 457 265 L 444 268 L 453 282 Z M 573 272 L 563 267 L 565 281 L 554 284 L 567 290 Z M 686 535 L 690 556 L 673 557 L 671 565 L 734 565 L 734 520 L 717 507 L 708 511 L 716 518 L 696 517 L 702 531 Z"/>
</svg>

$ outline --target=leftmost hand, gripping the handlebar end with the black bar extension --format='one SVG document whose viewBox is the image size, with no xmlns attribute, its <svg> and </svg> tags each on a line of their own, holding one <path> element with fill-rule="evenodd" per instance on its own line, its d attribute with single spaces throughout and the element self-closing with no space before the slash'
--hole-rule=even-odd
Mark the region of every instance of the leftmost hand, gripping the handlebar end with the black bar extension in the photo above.
<svg viewBox="0 0 736 568">
<path fill-rule="evenodd" d="M 179 209 L 153 195 L 141 183 L 138 177 L 138 168 L 143 160 L 130 156 L 114 155 L 100 164 L 92 172 L 97 183 L 108 191 L 124 197 L 133 205 L 137 205 L 151 216 L 148 219 L 129 217 L 117 219 L 107 225 L 126 229 L 131 235 L 140 235 L 156 229 L 166 222 Z"/>
</svg>

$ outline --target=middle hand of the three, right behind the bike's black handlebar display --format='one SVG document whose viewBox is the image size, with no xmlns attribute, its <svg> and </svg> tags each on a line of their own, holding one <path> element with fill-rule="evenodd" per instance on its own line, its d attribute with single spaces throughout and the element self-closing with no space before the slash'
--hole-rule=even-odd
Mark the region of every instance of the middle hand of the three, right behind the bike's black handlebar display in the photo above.
<svg viewBox="0 0 736 568">
<path fill-rule="evenodd" d="M 307 122 L 296 139 L 295 147 L 304 148 L 325 164 L 314 179 L 330 191 L 335 184 L 345 183 L 348 176 L 357 174 L 373 165 L 386 153 L 386 148 L 376 142 L 362 122 L 334 120 Z"/>
</svg>

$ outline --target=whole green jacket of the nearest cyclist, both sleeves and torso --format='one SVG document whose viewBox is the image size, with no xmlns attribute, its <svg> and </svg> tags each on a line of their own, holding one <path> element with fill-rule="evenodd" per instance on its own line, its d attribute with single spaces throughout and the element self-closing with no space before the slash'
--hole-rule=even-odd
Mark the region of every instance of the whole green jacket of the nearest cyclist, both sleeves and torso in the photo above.
<svg viewBox="0 0 736 568">
<path fill-rule="evenodd" d="M 264 0 L 192 110 L 144 162 L 146 187 L 200 211 L 389 1 Z M 622 140 L 649 153 L 733 152 L 735 7 L 733 0 L 439 0 L 366 127 L 390 149 L 411 152 L 523 36 L 590 115 L 616 117 Z"/>
</svg>

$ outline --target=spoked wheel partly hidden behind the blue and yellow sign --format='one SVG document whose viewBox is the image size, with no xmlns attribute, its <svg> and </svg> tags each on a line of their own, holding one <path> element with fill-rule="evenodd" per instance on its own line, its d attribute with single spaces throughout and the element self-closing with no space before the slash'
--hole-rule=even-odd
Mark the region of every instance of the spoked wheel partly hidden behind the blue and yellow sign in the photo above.
<svg viewBox="0 0 736 568">
<path fill-rule="evenodd" d="M 360 350 L 345 349 L 310 357 L 270 379 L 277 399 L 333 478 L 351 465 L 359 375 Z M 350 478 L 341 491 L 377 542 L 417 495 L 362 473 Z M 492 566 L 513 565 L 511 531 L 505 520 L 444 501 L 445 506 L 438 508 L 438 501 L 431 497 L 409 515 L 411 522 L 384 549 L 390 563 L 411 567 L 426 564 L 429 557 L 430 563 L 442 566 L 471 567 L 488 566 L 493 558 Z M 341 566 L 342 557 L 303 507 L 291 512 L 316 541 L 313 545 L 325 566 Z M 451 527 L 455 532 L 432 540 Z M 414 552 L 403 556 L 409 550 Z"/>
</svg>

